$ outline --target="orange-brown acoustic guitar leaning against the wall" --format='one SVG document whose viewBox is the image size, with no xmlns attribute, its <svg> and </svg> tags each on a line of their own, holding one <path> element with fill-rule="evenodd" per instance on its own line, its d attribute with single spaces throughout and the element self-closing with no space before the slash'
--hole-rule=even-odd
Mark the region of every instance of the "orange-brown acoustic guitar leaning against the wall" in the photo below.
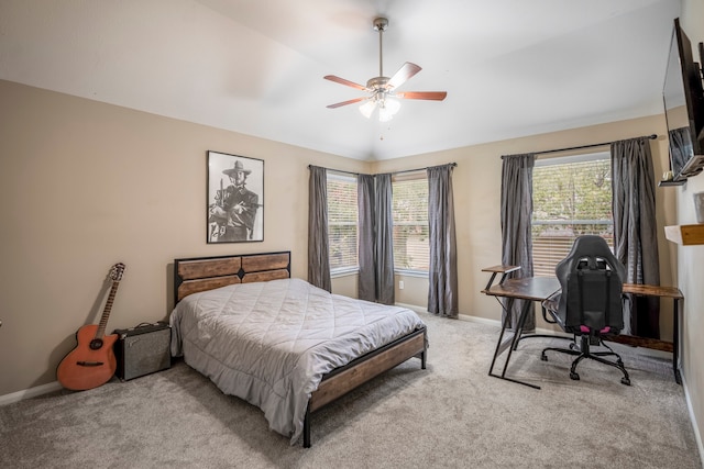
<svg viewBox="0 0 704 469">
<path fill-rule="evenodd" d="M 124 264 L 112 266 L 109 275 L 112 287 L 100 323 L 80 327 L 76 333 L 78 345 L 58 364 L 56 379 L 66 389 L 84 391 L 97 388 L 108 382 L 114 375 L 118 365 L 112 346 L 118 335 L 105 335 L 105 333 L 123 271 Z"/>
</svg>

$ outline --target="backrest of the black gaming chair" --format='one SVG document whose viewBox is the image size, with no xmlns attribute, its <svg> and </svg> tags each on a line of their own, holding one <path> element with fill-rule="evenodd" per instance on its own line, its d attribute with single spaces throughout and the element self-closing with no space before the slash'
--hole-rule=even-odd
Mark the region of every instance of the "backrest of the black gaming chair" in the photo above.
<svg viewBox="0 0 704 469">
<path fill-rule="evenodd" d="M 618 334 L 624 328 L 626 269 L 603 237 L 578 237 L 556 276 L 562 287 L 557 314 L 565 331 Z"/>
</svg>

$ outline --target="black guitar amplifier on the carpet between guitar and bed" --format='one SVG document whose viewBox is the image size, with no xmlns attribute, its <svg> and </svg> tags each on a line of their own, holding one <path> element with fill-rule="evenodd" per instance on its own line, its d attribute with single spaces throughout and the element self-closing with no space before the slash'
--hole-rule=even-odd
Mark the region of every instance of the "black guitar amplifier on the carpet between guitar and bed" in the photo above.
<svg viewBox="0 0 704 469">
<path fill-rule="evenodd" d="M 172 366 L 172 328 L 165 322 L 114 330 L 116 375 L 130 380 Z"/>
</svg>

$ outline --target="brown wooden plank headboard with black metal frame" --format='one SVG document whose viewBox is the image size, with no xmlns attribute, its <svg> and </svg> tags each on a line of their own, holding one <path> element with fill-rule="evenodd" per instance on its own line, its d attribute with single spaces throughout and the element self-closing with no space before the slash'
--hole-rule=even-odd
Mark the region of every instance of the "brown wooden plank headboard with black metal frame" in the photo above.
<svg viewBox="0 0 704 469">
<path fill-rule="evenodd" d="M 174 259 L 174 304 L 199 291 L 290 277 L 290 250 Z"/>
</svg>

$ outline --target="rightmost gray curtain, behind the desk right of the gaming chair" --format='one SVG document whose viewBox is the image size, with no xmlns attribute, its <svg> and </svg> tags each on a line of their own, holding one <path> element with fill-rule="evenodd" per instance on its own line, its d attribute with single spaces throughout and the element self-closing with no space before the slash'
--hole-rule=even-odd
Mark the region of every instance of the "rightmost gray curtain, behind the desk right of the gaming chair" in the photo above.
<svg viewBox="0 0 704 469">
<path fill-rule="evenodd" d="M 649 138 L 614 142 L 610 150 L 614 254 L 626 266 L 627 283 L 660 284 L 656 178 Z M 624 322 L 625 334 L 660 338 L 659 299 L 634 295 L 626 302 Z"/>
</svg>

